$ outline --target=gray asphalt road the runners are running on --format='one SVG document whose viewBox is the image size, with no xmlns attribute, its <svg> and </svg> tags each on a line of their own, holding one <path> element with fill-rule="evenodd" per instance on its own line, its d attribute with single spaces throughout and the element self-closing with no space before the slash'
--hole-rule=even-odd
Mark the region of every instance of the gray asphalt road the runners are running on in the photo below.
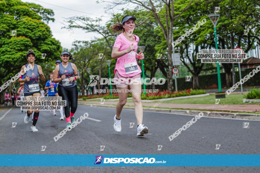
<svg viewBox="0 0 260 173">
<path fill-rule="evenodd" d="M 193 116 L 144 111 L 144 125 L 149 133 L 137 137 L 134 110 L 122 111 L 122 131 L 113 128 L 114 108 L 78 105 L 76 119 L 84 113 L 89 118 L 67 132 L 58 141 L 53 137 L 66 127 L 66 121 L 40 111 L 36 127 L 31 119 L 24 123 L 25 113 L 15 107 L 0 109 L 0 154 L 259 154 L 260 121 L 202 117 L 170 141 L 168 136 Z M 12 128 L 12 122 L 16 126 Z M 249 128 L 242 128 L 249 122 Z M 129 128 L 135 123 L 134 128 Z M 215 150 L 216 144 L 220 149 Z M 105 146 L 100 151 L 100 145 Z M 157 151 L 157 146 L 162 150 Z M 45 151 L 41 151 L 46 146 Z M 30 162 L 37 162 L 28 160 Z M 64 161 L 64 162 L 69 162 Z M 0 172 L 260 172 L 259 167 L 0 167 Z"/>
</svg>

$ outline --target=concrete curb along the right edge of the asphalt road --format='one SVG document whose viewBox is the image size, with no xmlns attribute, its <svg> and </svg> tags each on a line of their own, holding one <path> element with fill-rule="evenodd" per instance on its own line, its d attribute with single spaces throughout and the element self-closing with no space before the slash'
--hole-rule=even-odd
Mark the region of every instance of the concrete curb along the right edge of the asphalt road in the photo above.
<svg viewBox="0 0 260 173">
<path fill-rule="evenodd" d="M 92 103 L 78 103 L 79 105 L 88 105 L 88 106 L 99 106 L 106 108 L 116 108 L 114 105 L 100 105 Z M 124 109 L 134 110 L 134 107 L 124 106 Z M 251 113 L 229 113 L 229 112 L 210 112 L 210 111 L 190 111 L 190 110 L 178 110 L 178 109 L 160 109 L 160 108 L 143 108 L 144 111 L 151 112 L 163 112 L 163 113 L 172 113 L 172 114 L 185 114 L 185 115 L 199 115 L 200 112 L 204 116 L 209 117 L 220 117 L 220 118 L 234 118 L 234 119 L 245 119 L 245 120 L 260 120 L 260 115 L 251 114 Z"/>
</svg>

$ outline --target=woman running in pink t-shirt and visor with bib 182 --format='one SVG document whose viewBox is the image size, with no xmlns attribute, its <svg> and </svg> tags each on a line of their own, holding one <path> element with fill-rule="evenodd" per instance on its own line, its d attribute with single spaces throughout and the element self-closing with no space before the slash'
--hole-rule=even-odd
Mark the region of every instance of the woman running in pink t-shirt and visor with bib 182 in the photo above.
<svg viewBox="0 0 260 173">
<path fill-rule="evenodd" d="M 135 24 L 135 17 L 126 15 L 122 18 L 121 24 L 114 24 L 110 27 L 113 33 L 123 31 L 116 37 L 115 44 L 112 50 L 112 59 L 117 58 L 116 68 L 114 71 L 115 78 L 118 79 L 116 88 L 124 92 L 118 92 L 119 101 L 116 104 L 116 115 L 114 117 L 114 129 L 117 132 L 121 131 L 121 112 L 127 101 L 127 92 L 125 90 L 131 89 L 138 92 L 131 92 L 135 117 L 137 120 L 137 136 L 144 136 L 148 133 L 148 128 L 142 124 L 143 122 L 143 106 L 141 103 L 141 75 L 142 70 L 137 64 L 138 59 L 144 59 L 144 54 L 139 52 L 137 55 L 137 44 L 139 37 L 133 34 Z M 131 78 L 131 79 L 129 79 Z M 135 82 L 137 81 L 137 82 Z"/>
</svg>

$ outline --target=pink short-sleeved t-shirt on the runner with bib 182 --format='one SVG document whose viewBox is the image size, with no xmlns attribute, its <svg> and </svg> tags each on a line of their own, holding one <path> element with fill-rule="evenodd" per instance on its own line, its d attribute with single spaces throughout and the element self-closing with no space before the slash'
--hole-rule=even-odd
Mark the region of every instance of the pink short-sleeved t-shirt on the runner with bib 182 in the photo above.
<svg viewBox="0 0 260 173">
<path fill-rule="evenodd" d="M 126 39 L 126 37 L 123 35 L 123 33 L 119 34 L 116 37 L 116 41 L 115 41 L 114 47 L 118 47 L 119 48 L 118 51 L 123 51 L 123 50 L 128 49 L 128 47 L 131 44 L 133 44 L 133 46 L 135 47 L 135 50 L 132 50 L 131 52 L 127 53 L 126 55 L 123 55 L 123 56 L 117 58 L 116 68 L 115 68 L 114 74 L 116 73 L 116 70 L 117 70 L 118 73 L 121 76 L 123 76 L 123 77 L 131 77 L 131 76 L 138 75 L 139 73 L 142 72 L 142 70 L 140 69 L 139 65 L 137 64 L 136 56 L 135 56 L 136 55 L 136 50 L 138 48 L 137 44 L 139 42 L 139 37 L 137 35 L 134 35 L 134 37 L 136 37 L 135 42 L 130 42 L 128 39 Z M 125 70 L 124 64 L 128 64 L 130 62 L 136 62 L 137 68 L 138 68 L 138 72 L 126 74 L 126 70 Z"/>
</svg>

